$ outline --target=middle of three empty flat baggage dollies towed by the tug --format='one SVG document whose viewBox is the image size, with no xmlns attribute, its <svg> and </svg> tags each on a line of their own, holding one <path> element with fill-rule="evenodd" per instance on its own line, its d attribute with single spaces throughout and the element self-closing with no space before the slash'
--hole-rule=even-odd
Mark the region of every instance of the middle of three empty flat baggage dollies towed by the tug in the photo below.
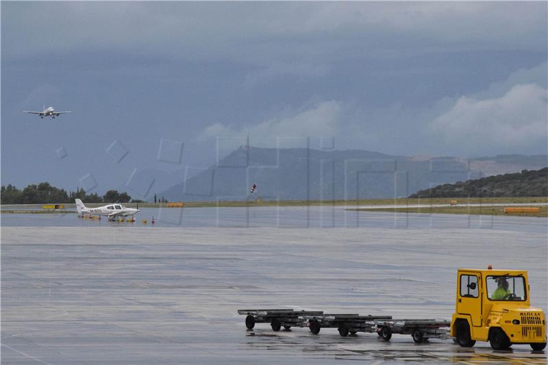
<svg viewBox="0 0 548 365">
<path fill-rule="evenodd" d="M 373 333 L 377 330 L 374 320 L 390 320 L 392 316 L 360 316 L 359 314 L 322 314 L 303 316 L 308 320 L 308 329 L 315 335 L 321 328 L 336 328 L 342 337 L 358 332 Z"/>
</svg>

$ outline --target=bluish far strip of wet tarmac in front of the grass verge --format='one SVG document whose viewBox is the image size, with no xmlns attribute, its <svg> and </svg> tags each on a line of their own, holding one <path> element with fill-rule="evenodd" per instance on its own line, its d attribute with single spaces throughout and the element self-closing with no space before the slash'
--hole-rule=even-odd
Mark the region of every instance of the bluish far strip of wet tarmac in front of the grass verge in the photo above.
<svg viewBox="0 0 548 365">
<path fill-rule="evenodd" d="M 359 206 L 366 207 L 366 206 Z M 369 207 L 373 207 L 370 205 Z M 273 228 L 480 228 L 548 231 L 547 218 L 416 214 L 347 210 L 356 206 L 142 208 L 134 223 L 82 219 L 76 214 L 1 214 L 2 227 L 273 227 Z M 147 220 L 147 225 L 142 220 Z"/>
</svg>

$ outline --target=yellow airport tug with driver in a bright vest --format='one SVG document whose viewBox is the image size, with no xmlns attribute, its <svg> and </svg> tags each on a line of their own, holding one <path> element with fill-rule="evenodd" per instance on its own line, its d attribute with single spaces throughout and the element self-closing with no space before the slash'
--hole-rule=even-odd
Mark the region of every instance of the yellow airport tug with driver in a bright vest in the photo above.
<svg viewBox="0 0 548 365">
<path fill-rule="evenodd" d="M 494 350 L 546 347 L 546 318 L 530 305 L 527 271 L 460 268 L 457 283 L 451 337 L 460 346 L 488 341 Z"/>
</svg>

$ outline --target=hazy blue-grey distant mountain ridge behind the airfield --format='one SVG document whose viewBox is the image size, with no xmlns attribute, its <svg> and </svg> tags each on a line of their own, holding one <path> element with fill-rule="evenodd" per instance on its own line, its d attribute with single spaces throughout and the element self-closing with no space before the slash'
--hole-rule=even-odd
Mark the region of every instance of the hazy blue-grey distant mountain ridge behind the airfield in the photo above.
<svg viewBox="0 0 548 365">
<path fill-rule="evenodd" d="M 414 158 L 362 150 L 240 147 L 160 195 L 169 201 L 332 200 L 408 197 L 440 184 L 548 166 L 548 155 Z"/>
</svg>

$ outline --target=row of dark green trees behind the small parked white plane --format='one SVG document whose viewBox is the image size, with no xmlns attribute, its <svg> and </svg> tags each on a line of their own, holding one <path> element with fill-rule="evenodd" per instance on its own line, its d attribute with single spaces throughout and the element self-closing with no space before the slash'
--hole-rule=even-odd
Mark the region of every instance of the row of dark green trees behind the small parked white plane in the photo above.
<svg viewBox="0 0 548 365">
<path fill-rule="evenodd" d="M 133 199 L 127 192 L 108 190 L 103 196 L 93 192 L 86 194 L 84 189 L 76 188 L 76 191 L 67 192 L 64 189 L 55 188 L 49 182 L 31 184 L 19 190 L 12 184 L 2 186 L 0 191 L 1 204 L 44 204 L 44 203 L 74 203 L 75 199 L 82 199 L 84 203 L 140 203 Z"/>
</svg>

